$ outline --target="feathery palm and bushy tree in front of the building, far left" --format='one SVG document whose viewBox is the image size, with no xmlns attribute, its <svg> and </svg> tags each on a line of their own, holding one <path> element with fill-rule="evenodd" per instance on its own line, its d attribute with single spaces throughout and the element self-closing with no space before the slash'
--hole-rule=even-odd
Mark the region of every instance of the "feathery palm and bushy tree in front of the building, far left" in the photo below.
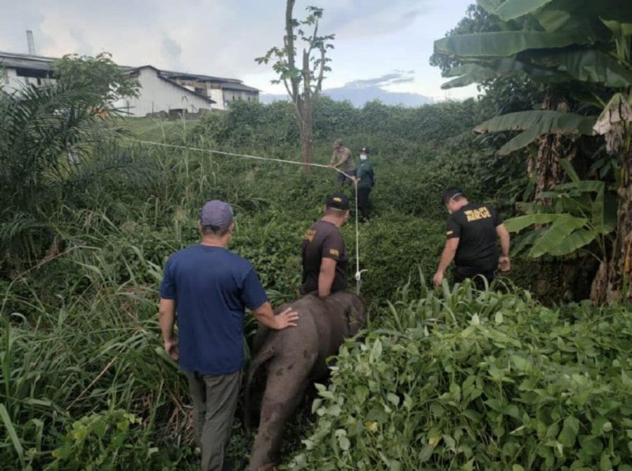
<svg viewBox="0 0 632 471">
<path fill-rule="evenodd" d="M 44 256 L 54 239 L 47 213 L 124 166 L 118 154 L 91 166 L 91 151 L 107 135 L 93 125 L 116 114 L 110 91 L 133 93 L 127 76 L 107 55 L 64 58 L 58 73 L 55 84 L 0 91 L 0 263 L 10 269 Z"/>
</svg>

